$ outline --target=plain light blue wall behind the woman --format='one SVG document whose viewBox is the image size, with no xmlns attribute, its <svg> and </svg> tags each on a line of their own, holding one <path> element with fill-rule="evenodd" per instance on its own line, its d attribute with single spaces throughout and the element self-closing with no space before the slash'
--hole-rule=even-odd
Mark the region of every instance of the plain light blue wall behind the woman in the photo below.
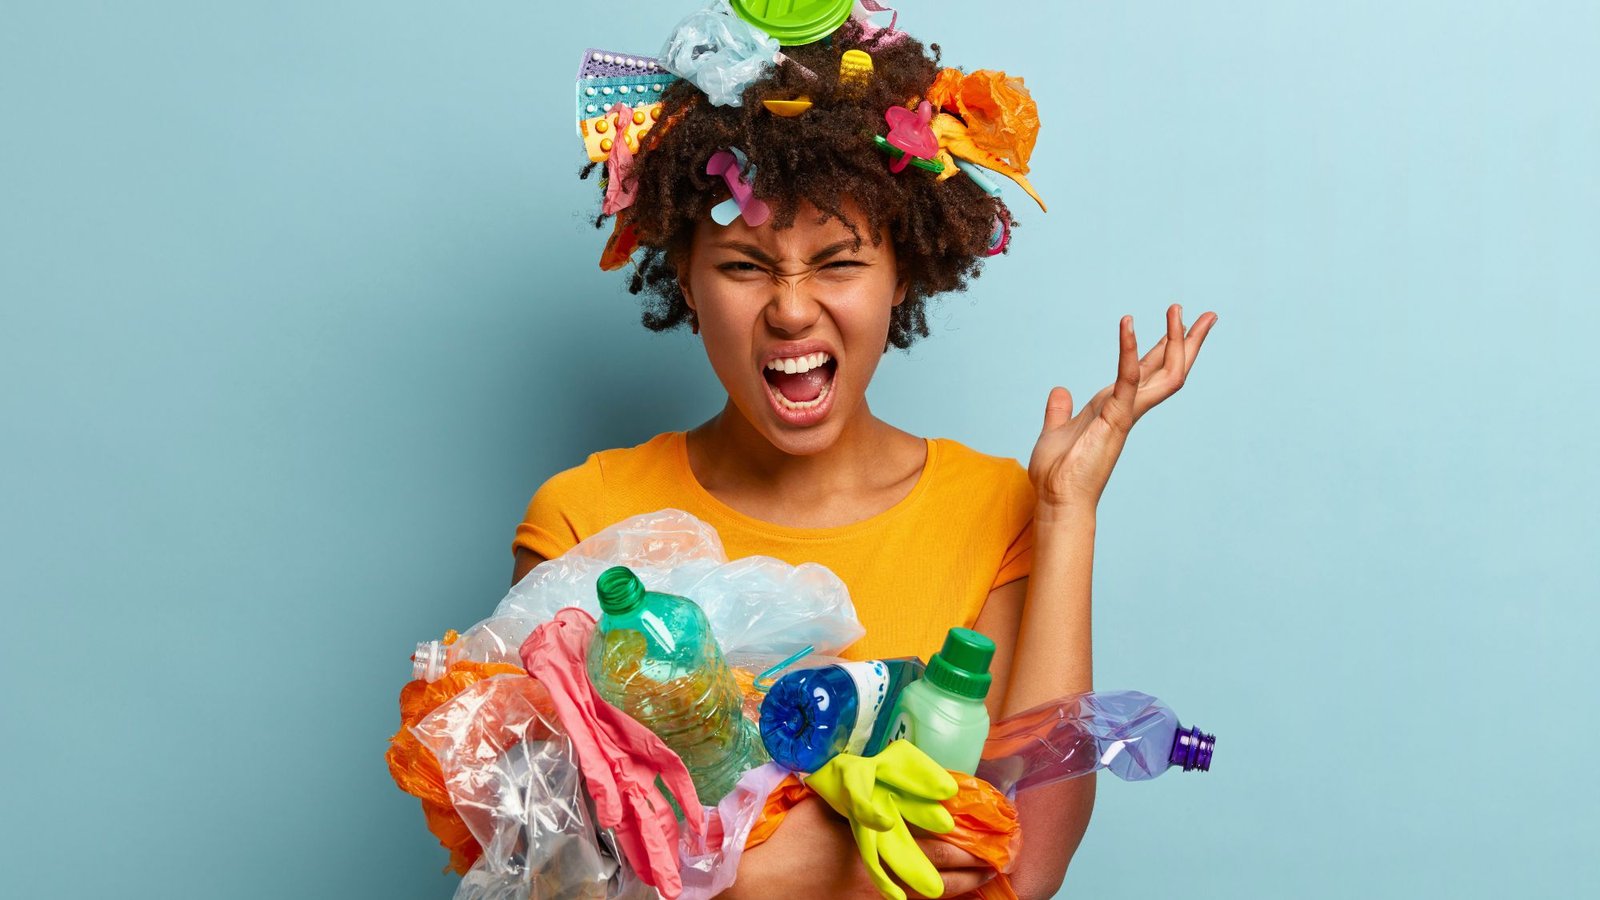
<svg viewBox="0 0 1600 900">
<path fill-rule="evenodd" d="M 574 178 L 582 48 L 691 6 L 6 5 L 8 895 L 450 895 L 382 764 L 411 644 L 544 477 L 718 404 Z M 1027 77 L 1051 213 L 874 408 L 1026 458 L 1120 314 L 1221 314 L 1096 570 L 1098 682 L 1216 767 L 1102 780 L 1066 894 L 1592 887 L 1600 6 L 998 10 L 902 24 Z"/>
</svg>

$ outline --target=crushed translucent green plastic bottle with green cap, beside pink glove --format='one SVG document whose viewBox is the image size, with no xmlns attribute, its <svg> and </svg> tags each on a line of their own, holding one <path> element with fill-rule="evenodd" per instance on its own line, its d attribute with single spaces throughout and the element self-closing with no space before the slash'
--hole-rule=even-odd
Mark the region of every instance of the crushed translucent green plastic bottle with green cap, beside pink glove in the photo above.
<svg viewBox="0 0 1600 900">
<path fill-rule="evenodd" d="M 744 695 L 694 601 L 646 591 L 626 565 L 600 575 L 589 677 L 600 697 L 683 759 L 702 806 L 766 762 Z"/>
</svg>

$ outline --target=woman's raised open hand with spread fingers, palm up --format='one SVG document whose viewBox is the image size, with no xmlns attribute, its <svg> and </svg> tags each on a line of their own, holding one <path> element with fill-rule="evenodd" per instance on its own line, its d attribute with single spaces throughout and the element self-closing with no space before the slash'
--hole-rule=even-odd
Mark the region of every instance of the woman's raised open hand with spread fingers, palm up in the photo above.
<svg viewBox="0 0 1600 900">
<path fill-rule="evenodd" d="M 1050 391 L 1045 429 L 1027 463 L 1042 511 L 1094 511 L 1133 423 L 1184 386 L 1211 325 L 1216 325 L 1216 312 L 1205 312 L 1186 333 L 1184 309 L 1174 303 L 1166 307 L 1166 336 L 1139 359 L 1133 315 L 1123 315 L 1117 380 L 1077 415 L 1072 415 L 1070 391 Z"/>
</svg>

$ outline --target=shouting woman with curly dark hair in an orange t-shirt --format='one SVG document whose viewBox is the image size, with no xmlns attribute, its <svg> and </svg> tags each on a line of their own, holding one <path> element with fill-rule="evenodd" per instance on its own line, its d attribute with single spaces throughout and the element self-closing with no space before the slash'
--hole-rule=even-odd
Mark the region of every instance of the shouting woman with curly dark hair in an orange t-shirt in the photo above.
<svg viewBox="0 0 1600 900">
<path fill-rule="evenodd" d="M 848 66 L 842 75 L 846 50 L 872 56 L 870 77 L 853 78 Z M 629 235 L 642 248 L 632 290 L 650 299 L 645 323 L 701 335 L 725 407 L 698 428 L 597 453 L 546 482 L 518 527 L 515 577 L 616 520 L 678 508 L 717 527 L 730 557 L 838 573 L 867 628 L 851 657 L 926 658 L 960 625 L 997 644 L 992 717 L 1091 690 L 1096 506 L 1128 429 L 1182 386 L 1216 315 L 1186 330 L 1181 307 L 1170 307 L 1165 336 L 1142 359 L 1123 317 L 1115 381 L 1077 413 L 1064 388 L 1051 389 L 1026 471 L 883 421 L 866 399 L 878 359 L 928 333 L 926 301 L 963 290 L 1013 219 L 968 176 L 893 171 L 893 149 L 872 135 L 894 120 L 886 110 L 923 98 L 965 110 L 958 120 L 976 130 L 982 104 L 962 93 L 986 86 L 941 72 L 902 32 L 854 19 L 784 54 L 744 86 L 741 106 L 707 102 L 690 82 L 669 88 L 662 125 L 630 168 L 611 173 L 611 194 L 632 197 L 616 234 L 624 255 Z M 990 78 L 987 90 L 1018 85 Z M 798 115 L 763 102 L 798 98 L 810 101 Z M 734 195 L 739 216 L 712 219 L 730 200 L 730 181 L 707 175 L 723 152 L 768 215 Z M 1026 168 L 1026 159 L 1011 163 Z M 1019 796 L 1024 849 L 1011 882 L 1022 897 L 1059 887 L 1093 791 L 1080 778 Z M 992 876 L 949 844 L 920 842 L 946 895 Z M 730 895 L 877 890 L 845 822 L 810 799 L 744 855 Z"/>
</svg>

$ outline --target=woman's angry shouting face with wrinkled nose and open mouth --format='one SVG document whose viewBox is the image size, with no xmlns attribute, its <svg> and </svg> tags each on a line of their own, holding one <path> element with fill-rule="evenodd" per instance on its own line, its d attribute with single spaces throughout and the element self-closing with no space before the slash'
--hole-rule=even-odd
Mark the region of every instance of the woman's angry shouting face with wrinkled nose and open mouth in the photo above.
<svg viewBox="0 0 1600 900">
<path fill-rule="evenodd" d="M 867 221 L 853 203 L 851 221 Z M 888 234 L 861 245 L 803 203 L 792 227 L 694 229 L 683 293 L 728 397 L 773 447 L 810 455 L 866 415 L 867 383 L 906 299 Z"/>
</svg>

